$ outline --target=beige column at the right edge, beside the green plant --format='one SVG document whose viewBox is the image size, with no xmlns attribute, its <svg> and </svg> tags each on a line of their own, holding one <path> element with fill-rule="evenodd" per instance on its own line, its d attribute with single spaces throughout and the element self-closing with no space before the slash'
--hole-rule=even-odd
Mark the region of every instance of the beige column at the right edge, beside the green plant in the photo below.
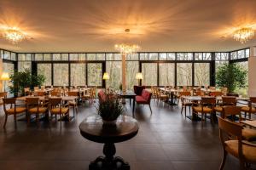
<svg viewBox="0 0 256 170">
<path fill-rule="evenodd" d="M 248 95 L 256 97 L 256 47 L 250 48 L 248 59 Z"/>
</svg>

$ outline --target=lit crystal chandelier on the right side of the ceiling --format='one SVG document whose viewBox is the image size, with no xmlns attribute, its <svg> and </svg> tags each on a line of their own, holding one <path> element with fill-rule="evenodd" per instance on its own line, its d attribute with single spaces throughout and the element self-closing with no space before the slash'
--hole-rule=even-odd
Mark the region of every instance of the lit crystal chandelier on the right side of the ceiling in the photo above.
<svg viewBox="0 0 256 170">
<path fill-rule="evenodd" d="M 249 39 L 252 39 L 254 36 L 254 31 L 252 28 L 241 28 L 234 31 L 234 39 L 241 43 L 247 42 Z"/>
</svg>

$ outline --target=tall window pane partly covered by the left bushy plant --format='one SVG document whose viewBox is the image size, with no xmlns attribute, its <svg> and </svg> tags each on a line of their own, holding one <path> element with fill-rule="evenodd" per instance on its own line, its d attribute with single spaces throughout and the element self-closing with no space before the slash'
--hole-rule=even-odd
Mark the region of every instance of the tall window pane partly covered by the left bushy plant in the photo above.
<svg viewBox="0 0 256 170">
<path fill-rule="evenodd" d="M 44 86 L 51 86 L 51 64 L 38 64 L 38 74 L 44 75 Z"/>
</svg>

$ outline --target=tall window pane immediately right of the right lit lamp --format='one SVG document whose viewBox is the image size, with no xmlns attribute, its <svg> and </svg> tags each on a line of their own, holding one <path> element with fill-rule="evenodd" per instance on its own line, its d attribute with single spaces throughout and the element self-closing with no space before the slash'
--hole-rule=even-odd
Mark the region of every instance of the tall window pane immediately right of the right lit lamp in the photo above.
<svg viewBox="0 0 256 170">
<path fill-rule="evenodd" d="M 157 63 L 143 63 L 143 85 L 157 86 Z"/>
</svg>

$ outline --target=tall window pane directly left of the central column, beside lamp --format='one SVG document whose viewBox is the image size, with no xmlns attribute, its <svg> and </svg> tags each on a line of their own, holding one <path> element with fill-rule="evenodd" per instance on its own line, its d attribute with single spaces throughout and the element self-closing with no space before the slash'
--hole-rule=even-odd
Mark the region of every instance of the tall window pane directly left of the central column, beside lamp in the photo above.
<svg viewBox="0 0 256 170">
<path fill-rule="evenodd" d="M 107 61 L 106 71 L 109 74 L 107 80 L 107 87 L 111 89 L 119 89 L 122 82 L 122 62 L 121 61 Z"/>
</svg>

